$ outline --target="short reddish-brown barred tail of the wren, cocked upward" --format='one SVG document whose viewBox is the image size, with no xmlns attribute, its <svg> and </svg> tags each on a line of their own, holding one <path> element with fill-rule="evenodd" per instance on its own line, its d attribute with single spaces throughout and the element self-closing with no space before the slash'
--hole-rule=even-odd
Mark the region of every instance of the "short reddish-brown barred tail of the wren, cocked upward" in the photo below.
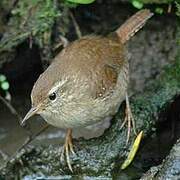
<svg viewBox="0 0 180 180">
<path fill-rule="evenodd" d="M 150 10 L 143 9 L 130 17 L 122 26 L 116 30 L 116 33 L 121 42 L 124 44 L 132 36 L 134 36 L 134 34 L 139 31 L 144 26 L 146 21 L 152 16 L 153 13 L 151 13 Z"/>
</svg>

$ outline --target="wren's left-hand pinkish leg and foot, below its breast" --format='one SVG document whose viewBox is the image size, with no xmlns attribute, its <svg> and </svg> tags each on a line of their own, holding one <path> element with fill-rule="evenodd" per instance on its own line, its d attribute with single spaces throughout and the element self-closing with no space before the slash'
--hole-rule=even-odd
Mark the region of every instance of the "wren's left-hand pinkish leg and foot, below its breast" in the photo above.
<svg viewBox="0 0 180 180">
<path fill-rule="evenodd" d="M 73 155 L 75 155 L 75 152 L 73 149 L 73 144 L 72 144 L 72 129 L 68 129 L 68 131 L 66 133 L 65 143 L 64 143 L 63 149 L 61 151 L 61 161 L 64 159 L 64 155 L 65 155 L 68 167 L 69 167 L 70 171 L 73 172 L 70 158 L 69 158 L 69 151 Z"/>
</svg>

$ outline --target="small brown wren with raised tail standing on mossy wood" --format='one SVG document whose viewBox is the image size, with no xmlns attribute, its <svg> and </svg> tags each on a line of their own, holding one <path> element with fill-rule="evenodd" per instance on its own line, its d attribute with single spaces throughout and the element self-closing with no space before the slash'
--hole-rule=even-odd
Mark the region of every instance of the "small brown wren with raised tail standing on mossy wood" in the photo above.
<svg viewBox="0 0 180 180">
<path fill-rule="evenodd" d="M 134 120 L 127 96 L 129 63 L 125 43 L 153 14 L 145 9 L 129 18 L 116 32 L 85 36 L 62 50 L 40 75 L 31 93 L 32 108 L 22 124 L 34 114 L 47 123 L 68 129 L 64 151 L 69 169 L 69 151 L 74 153 L 72 129 L 113 116 L 124 99 L 128 138 Z"/>
</svg>

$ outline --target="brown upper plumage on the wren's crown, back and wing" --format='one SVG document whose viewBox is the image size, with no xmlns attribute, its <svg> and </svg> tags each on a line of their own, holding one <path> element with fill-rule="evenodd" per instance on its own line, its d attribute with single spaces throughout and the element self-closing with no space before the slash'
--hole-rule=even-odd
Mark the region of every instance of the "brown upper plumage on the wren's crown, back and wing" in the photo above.
<svg viewBox="0 0 180 180">
<path fill-rule="evenodd" d="M 85 36 L 58 54 L 39 77 L 32 90 L 33 103 L 36 105 L 43 101 L 61 78 L 65 76 L 70 80 L 76 73 L 90 82 L 89 93 L 93 97 L 103 95 L 115 86 L 126 60 L 124 46 L 117 37 Z"/>
</svg>

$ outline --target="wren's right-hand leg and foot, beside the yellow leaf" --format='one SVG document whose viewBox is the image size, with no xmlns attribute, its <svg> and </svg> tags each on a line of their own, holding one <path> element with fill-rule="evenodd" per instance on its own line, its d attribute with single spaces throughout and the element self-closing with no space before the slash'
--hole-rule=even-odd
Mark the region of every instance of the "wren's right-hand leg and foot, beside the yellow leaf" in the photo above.
<svg viewBox="0 0 180 180">
<path fill-rule="evenodd" d="M 125 118 L 124 121 L 120 127 L 120 129 L 122 129 L 124 127 L 124 125 L 127 123 L 127 139 L 126 139 L 126 144 L 129 141 L 129 137 L 130 137 L 130 132 L 131 132 L 131 126 L 133 128 L 134 134 L 136 134 L 136 127 L 135 127 L 135 121 L 133 118 L 133 114 L 131 112 L 131 108 L 130 108 L 130 104 L 129 104 L 129 98 L 128 95 L 126 93 L 126 110 L 125 110 Z"/>
</svg>

